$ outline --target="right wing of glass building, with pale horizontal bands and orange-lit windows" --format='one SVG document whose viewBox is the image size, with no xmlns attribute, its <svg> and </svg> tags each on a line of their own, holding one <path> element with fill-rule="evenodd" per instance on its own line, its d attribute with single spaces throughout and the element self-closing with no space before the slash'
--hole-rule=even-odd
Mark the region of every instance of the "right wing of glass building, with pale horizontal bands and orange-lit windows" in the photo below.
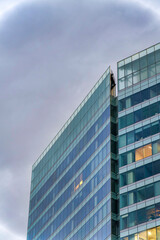
<svg viewBox="0 0 160 240">
<path fill-rule="evenodd" d="M 160 239 L 160 44 L 118 62 L 120 239 Z"/>
</svg>

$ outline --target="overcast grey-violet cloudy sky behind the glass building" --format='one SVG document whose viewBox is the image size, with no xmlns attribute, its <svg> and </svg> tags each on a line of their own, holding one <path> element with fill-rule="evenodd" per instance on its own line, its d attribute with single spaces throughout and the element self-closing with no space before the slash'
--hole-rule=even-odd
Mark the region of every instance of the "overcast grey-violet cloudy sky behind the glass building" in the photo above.
<svg viewBox="0 0 160 240">
<path fill-rule="evenodd" d="M 159 0 L 0 0 L 0 240 L 25 240 L 31 167 L 108 65 L 160 41 Z"/>
</svg>

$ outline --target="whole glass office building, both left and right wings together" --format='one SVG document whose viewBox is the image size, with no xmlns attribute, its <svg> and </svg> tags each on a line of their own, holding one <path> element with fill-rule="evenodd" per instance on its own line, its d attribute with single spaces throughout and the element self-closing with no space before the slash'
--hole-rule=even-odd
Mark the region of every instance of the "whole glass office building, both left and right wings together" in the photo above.
<svg viewBox="0 0 160 240">
<path fill-rule="evenodd" d="M 32 167 L 27 240 L 160 240 L 160 43 L 110 67 Z"/>
</svg>

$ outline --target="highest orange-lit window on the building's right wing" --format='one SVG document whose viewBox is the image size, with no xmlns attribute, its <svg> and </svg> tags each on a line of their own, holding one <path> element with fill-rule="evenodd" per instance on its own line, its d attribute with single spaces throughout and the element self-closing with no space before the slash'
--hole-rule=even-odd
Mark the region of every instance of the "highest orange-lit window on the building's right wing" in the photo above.
<svg viewBox="0 0 160 240">
<path fill-rule="evenodd" d="M 139 161 L 139 160 L 149 157 L 151 155 L 152 155 L 152 145 L 148 144 L 144 147 L 136 149 L 135 160 Z"/>
</svg>

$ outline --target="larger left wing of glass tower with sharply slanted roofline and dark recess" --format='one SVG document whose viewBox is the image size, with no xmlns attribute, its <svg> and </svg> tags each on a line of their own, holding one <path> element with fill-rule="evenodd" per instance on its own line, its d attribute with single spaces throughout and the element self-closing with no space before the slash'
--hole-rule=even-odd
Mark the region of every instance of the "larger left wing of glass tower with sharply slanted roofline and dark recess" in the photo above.
<svg viewBox="0 0 160 240">
<path fill-rule="evenodd" d="M 117 238 L 117 112 L 108 68 L 33 165 L 27 240 Z"/>
</svg>

